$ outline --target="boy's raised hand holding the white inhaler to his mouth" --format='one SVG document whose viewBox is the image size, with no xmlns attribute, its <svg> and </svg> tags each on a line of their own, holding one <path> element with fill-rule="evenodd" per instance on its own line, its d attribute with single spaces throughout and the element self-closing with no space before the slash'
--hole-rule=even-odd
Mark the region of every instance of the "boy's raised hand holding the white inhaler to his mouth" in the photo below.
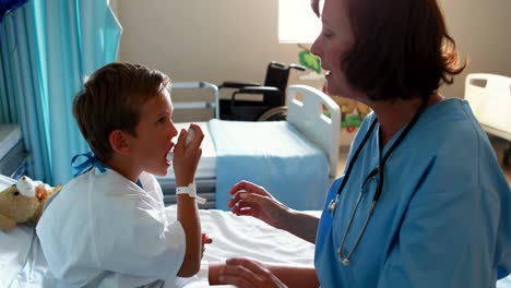
<svg viewBox="0 0 511 288">
<path fill-rule="evenodd" d="M 201 143 L 204 139 L 204 133 L 197 124 L 190 124 L 190 129 L 194 130 L 194 136 L 191 143 L 187 146 L 186 140 L 188 131 L 181 130 L 176 147 L 174 148 L 174 172 L 176 175 L 176 184 L 178 187 L 187 187 L 193 182 L 197 165 L 201 158 Z"/>
</svg>

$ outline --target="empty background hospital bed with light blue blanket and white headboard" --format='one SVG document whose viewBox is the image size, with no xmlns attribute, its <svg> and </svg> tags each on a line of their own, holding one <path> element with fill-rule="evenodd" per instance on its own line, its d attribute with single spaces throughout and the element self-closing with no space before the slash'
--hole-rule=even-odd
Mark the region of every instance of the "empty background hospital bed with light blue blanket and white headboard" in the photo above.
<svg viewBox="0 0 511 288">
<path fill-rule="evenodd" d="M 173 84 L 180 89 L 209 89 L 214 99 L 175 103 L 175 109 L 211 108 L 215 118 L 198 122 L 204 132 L 202 157 L 195 173 L 201 208 L 227 208 L 228 191 L 245 179 L 263 185 L 284 204 L 297 209 L 319 209 L 338 158 L 338 106 L 324 93 L 306 85 L 286 91 L 287 121 L 249 122 L 217 119 L 218 89 L 204 82 Z M 190 123 L 177 123 L 178 130 Z M 158 178 L 167 205 L 176 203 L 173 168 Z"/>
</svg>

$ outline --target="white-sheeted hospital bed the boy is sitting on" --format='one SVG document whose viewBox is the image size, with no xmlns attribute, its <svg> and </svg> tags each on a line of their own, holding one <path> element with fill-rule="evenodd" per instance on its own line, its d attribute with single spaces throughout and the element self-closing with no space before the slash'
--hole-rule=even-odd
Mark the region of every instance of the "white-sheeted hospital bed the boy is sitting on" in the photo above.
<svg viewBox="0 0 511 288">
<path fill-rule="evenodd" d="M 13 183 L 13 179 L 0 175 L 0 191 Z M 176 206 L 167 206 L 166 212 L 169 216 L 175 215 Z M 309 213 L 320 215 L 319 211 Z M 255 218 L 237 217 L 218 209 L 202 209 L 200 217 L 202 230 L 213 238 L 203 256 L 207 263 L 248 256 L 270 264 L 313 266 L 314 247 L 311 243 Z M 47 272 L 33 225 L 20 225 L 9 232 L 0 230 L 0 287 L 43 287 Z M 204 281 L 199 278 L 180 287 L 204 287 Z M 511 276 L 499 280 L 497 287 L 511 288 Z"/>
</svg>

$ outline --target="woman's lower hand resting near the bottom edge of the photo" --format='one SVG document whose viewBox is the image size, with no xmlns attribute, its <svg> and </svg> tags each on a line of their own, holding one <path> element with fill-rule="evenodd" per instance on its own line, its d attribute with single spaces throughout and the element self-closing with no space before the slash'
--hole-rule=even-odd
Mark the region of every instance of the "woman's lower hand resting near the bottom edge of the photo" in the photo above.
<svg viewBox="0 0 511 288">
<path fill-rule="evenodd" d="M 235 285 L 240 288 L 287 287 L 263 264 L 248 259 L 227 260 L 218 276 L 221 283 Z"/>
</svg>

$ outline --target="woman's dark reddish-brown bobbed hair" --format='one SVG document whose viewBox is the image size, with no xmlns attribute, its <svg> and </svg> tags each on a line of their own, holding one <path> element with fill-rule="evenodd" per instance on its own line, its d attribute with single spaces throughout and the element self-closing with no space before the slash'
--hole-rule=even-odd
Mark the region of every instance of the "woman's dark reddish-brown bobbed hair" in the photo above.
<svg viewBox="0 0 511 288">
<path fill-rule="evenodd" d="M 437 0 L 328 1 L 347 2 L 355 44 L 341 67 L 372 100 L 429 96 L 466 65 Z"/>
</svg>

